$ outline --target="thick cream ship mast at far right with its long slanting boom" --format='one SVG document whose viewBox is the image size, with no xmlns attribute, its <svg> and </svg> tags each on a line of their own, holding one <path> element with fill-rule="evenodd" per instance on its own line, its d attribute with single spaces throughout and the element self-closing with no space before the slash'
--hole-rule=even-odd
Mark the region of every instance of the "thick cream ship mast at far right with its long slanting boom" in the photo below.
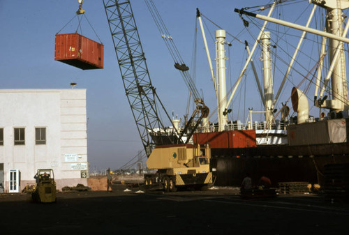
<svg viewBox="0 0 349 235">
<path fill-rule="evenodd" d="M 324 80 L 324 84 L 320 91 L 320 96 L 315 93 L 315 106 L 323 107 L 331 111 L 331 118 L 341 118 L 348 116 L 349 100 L 348 100 L 348 85 L 346 79 L 346 61 L 343 50 L 343 43 L 349 43 L 349 38 L 346 35 L 349 30 L 349 24 L 346 24 L 346 28 L 343 30 L 343 13 L 342 10 L 349 8 L 349 1 L 346 0 L 311 0 L 322 8 L 327 10 L 327 31 L 319 31 L 311 29 L 308 26 L 301 26 L 299 24 L 292 24 L 283 20 L 278 20 L 265 15 L 258 15 L 255 13 L 248 13 L 245 10 L 235 9 L 235 12 L 239 14 L 245 14 L 252 17 L 256 17 L 260 20 L 289 26 L 293 29 L 299 29 L 308 33 L 314 33 L 319 36 L 328 38 L 329 40 L 329 61 L 331 66 L 327 73 L 327 77 Z M 324 42 L 322 44 L 325 44 Z M 332 100 L 327 100 L 327 96 L 324 96 L 327 83 L 331 80 L 332 84 Z M 320 82 L 317 81 L 317 84 Z M 318 89 L 315 90 L 317 92 Z"/>
</svg>

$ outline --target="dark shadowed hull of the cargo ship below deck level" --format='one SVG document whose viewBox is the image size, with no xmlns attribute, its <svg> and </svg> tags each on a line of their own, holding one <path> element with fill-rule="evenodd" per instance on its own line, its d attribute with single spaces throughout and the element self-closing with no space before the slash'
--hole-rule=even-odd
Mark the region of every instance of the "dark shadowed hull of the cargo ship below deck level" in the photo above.
<svg viewBox="0 0 349 235">
<path fill-rule="evenodd" d="M 239 186 L 246 173 L 255 184 L 265 175 L 273 185 L 290 181 L 324 185 L 325 165 L 349 163 L 349 144 L 211 149 L 211 154 L 216 185 Z"/>
</svg>

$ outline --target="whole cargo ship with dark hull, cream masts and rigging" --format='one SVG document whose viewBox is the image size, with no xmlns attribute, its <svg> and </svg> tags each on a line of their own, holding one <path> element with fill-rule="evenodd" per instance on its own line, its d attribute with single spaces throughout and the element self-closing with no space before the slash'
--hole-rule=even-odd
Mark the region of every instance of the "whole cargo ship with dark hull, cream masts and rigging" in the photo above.
<svg viewBox="0 0 349 235">
<path fill-rule="evenodd" d="M 343 10 L 349 8 L 349 3 L 348 1 L 311 0 L 309 6 L 312 6 L 312 9 L 308 22 L 306 26 L 302 26 L 272 17 L 273 10 L 284 2 L 275 1 L 258 8 L 269 10 L 267 15 L 247 12 L 244 10 L 246 8 L 235 9 L 244 24 L 248 20 L 252 22 L 252 18 L 260 19 L 258 22 L 260 31 L 255 37 L 251 51 L 246 43 L 249 56 L 235 87 L 230 89 L 229 96 L 225 86 L 226 56 L 224 54 L 224 46 L 229 42 L 225 40 L 224 30 L 216 31 L 217 73 L 216 77 L 212 74 L 212 78 L 217 81 L 215 87 L 219 88 L 216 91 L 218 122 L 211 125 L 201 123 L 192 138 L 194 144 L 209 144 L 211 147 L 211 168 L 216 174 L 216 185 L 238 186 L 246 173 L 249 173 L 254 181 L 260 176 L 268 176 L 274 185 L 288 181 L 306 181 L 324 185 L 325 165 L 349 162 L 349 119 L 347 118 L 349 102 L 344 50 L 345 43 L 349 42 L 346 38 L 349 24 L 346 24 L 345 28 L 343 26 L 346 18 Z M 320 30 L 310 26 L 313 15 L 318 10 L 326 16 Z M 200 13 L 198 17 L 200 18 Z M 271 24 L 291 27 L 299 34 L 297 46 L 292 47 L 294 52 L 291 53 L 283 70 L 283 82 L 276 96 L 273 91 L 273 56 L 271 54 L 272 42 L 276 42 L 275 38 L 272 39 L 275 32 L 270 33 L 267 30 L 270 29 L 267 26 Z M 316 45 L 320 53 L 316 59 L 312 57 L 312 68 L 302 75 L 302 81 L 290 91 L 286 91 L 290 94 L 289 99 L 276 109 L 282 86 L 289 79 L 291 71 L 294 70 L 293 67 L 297 63 L 298 65 L 304 63 L 297 61 L 299 47 L 304 44 L 304 40 L 310 38 L 311 34 L 315 35 L 314 37 L 320 42 Z M 264 114 L 265 120 L 254 121 L 253 114 L 258 112 L 250 109 L 246 123 L 239 120 L 229 121 L 227 114 L 231 112 L 230 103 L 246 73 L 246 68 L 254 67 L 252 58 L 258 46 L 262 48 L 264 87 L 260 86 L 257 77 L 256 83 L 264 106 L 264 110 L 259 113 Z M 281 43 L 280 45 L 276 43 L 274 47 L 281 47 Z M 212 68 L 211 70 L 213 71 Z M 255 68 L 253 70 L 255 71 Z M 304 81 L 308 84 L 305 85 Z M 306 93 L 301 89 L 303 86 L 308 90 L 310 85 L 314 86 L 313 106 L 319 110 L 318 117 L 309 114 L 307 97 L 309 91 Z M 294 116 L 290 116 L 288 101 L 292 103 Z M 180 129 L 179 126 L 174 128 Z"/>
</svg>

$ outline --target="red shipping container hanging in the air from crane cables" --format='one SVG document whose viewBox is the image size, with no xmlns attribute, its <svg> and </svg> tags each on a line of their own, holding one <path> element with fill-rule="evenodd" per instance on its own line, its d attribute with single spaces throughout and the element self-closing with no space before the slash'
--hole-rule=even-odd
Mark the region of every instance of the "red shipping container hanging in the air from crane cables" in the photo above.
<svg viewBox="0 0 349 235">
<path fill-rule="evenodd" d="M 56 34 L 54 60 L 82 70 L 103 68 L 104 46 L 78 33 Z"/>
</svg>

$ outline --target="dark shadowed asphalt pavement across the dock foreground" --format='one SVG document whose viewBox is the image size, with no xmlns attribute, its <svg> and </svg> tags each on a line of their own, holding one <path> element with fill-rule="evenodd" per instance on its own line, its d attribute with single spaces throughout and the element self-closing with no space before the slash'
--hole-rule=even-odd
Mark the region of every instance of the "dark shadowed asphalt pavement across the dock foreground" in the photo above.
<svg viewBox="0 0 349 235">
<path fill-rule="evenodd" d="M 349 205 L 319 195 L 242 199 L 236 188 L 112 188 L 58 193 L 52 204 L 0 195 L 0 234 L 349 234 Z"/>
</svg>

